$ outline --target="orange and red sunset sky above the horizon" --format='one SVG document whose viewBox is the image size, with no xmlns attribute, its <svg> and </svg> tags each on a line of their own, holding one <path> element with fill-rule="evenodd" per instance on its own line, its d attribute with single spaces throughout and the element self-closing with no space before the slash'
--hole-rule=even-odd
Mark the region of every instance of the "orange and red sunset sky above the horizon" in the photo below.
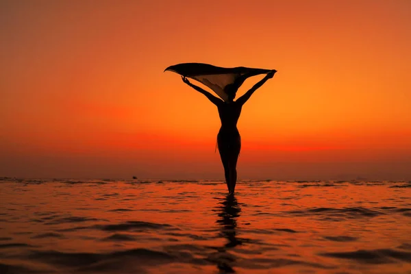
<svg viewBox="0 0 411 274">
<path fill-rule="evenodd" d="M 410 18 L 408 0 L 0 1 L 0 176 L 223 179 L 215 106 L 163 73 L 204 62 L 278 71 L 242 110 L 239 179 L 411 179 Z"/>
</svg>

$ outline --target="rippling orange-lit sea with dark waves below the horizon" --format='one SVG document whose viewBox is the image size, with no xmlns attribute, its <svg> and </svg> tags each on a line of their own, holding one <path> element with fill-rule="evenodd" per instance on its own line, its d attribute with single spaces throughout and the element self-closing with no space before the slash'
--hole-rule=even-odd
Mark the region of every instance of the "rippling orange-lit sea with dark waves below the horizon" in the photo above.
<svg viewBox="0 0 411 274">
<path fill-rule="evenodd" d="M 411 182 L 0 178 L 0 273 L 411 273 Z"/>
</svg>

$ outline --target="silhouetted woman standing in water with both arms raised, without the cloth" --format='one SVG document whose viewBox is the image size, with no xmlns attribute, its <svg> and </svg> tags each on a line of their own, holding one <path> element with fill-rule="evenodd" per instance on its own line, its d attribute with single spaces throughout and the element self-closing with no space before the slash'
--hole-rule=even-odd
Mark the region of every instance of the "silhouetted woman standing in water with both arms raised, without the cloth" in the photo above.
<svg viewBox="0 0 411 274">
<path fill-rule="evenodd" d="M 188 79 L 182 76 L 183 82 L 188 84 L 188 86 L 194 88 L 195 90 L 201 92 L 203 95 L 214 103 L 219 110 L 219 116 L 221 120 L 221 128 L 219 134 L 217 135 L 217 143 L 219 145 L 219 153 L 221 156 L 221 162 L 224 166 L 225 182 L 227 184 L 229 194 L 234 195 L 234 190 L 236 188 L 237 182 L 237 160 L 241 149 L 241 139 L 240 133 L 237 129 L 237 121 L 240 118 L 242 105 L 247 102 L 247 100 L 253 95 L 260 86 L 262 86 L 268 79 L 274 76 L 277 71 L 273 70 L 257 84 L 255 84 L 250 90 L 245 92 L 245 95 L 234 101 L 236 97 L 236 92 L 242 82 L 244 82 L 249 75 L 245 74 L 242 77 L 238 77 L 234 84 L 227 85 L 225 87 L 225 92 L 228 95 L 227 101 L 223 101 L 210 92 L 203 90 L 199 86 L 195 86 L 188 81 Z"/>
</svg>

